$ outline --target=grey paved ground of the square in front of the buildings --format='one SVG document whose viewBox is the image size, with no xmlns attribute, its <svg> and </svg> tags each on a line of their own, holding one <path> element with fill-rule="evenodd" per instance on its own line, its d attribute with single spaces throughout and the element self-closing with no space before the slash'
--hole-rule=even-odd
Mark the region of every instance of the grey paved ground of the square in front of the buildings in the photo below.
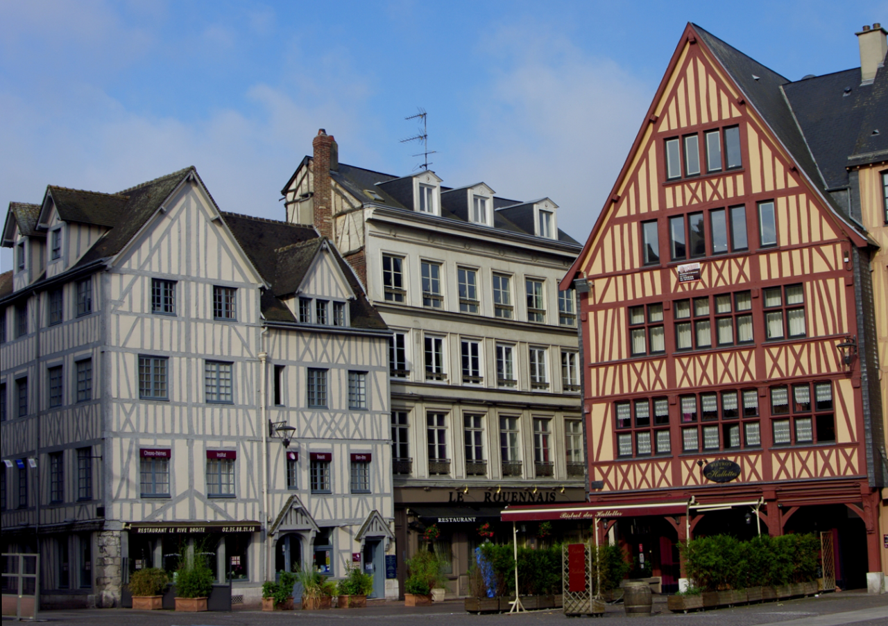
<svg viewBox="0 0 888 626">
<path fill-rule="evenodd" d="M 448 601 L 431 607 L 408 608 L 402 603 L 371 603 L 363 609 L 332 609 L 329 611 L 292 611 L 262 613 L 235 610 L 231 613 L 184 614 L 173 611 L 139 612 L 128 609 L 95 609 L 80 611 L 44 611 L 41 617 L 51 624 L 71 626 L 297 626 L 298 624 L 379 624 L 404 626 L 528 626 L 565 624 L 564 614 L 555 611 L 534 611 L 527 614 L 472 615 L 463 610 L 462 601 Z M 576 623 L 576 618 L 567 622 Z M 602 618 L 608 622 L 627 619 L 622 605 L 608 606 Z M 869 596 L 863 592 L 846 591 L 825 594 L 821 598 L 799 598 L 784 602 L 718 609 L 714 611 L 671 614 L 665 598 L 654 598 L 654 615 L 633 619 L 651 626 L 888 626 L 888 595 Z M 10 624 L 4 617 L 4 624 Z"/>
</svg>

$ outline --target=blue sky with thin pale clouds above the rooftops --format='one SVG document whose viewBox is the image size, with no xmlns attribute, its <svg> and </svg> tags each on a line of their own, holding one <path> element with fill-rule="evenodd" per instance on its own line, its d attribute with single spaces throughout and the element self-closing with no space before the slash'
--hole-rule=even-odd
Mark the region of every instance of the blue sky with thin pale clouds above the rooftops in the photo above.
<svg viewBox="0 0 888 626">
<path fill-rule="evenodd" d="M 859 67 L 888 0 L 0 0 L 0 202 L 194 165 L 222 210 L 282 219 L 319 128 L 405 176 L 422 107 L 442 185 L 551 197 L 583 242 L 688 21 L 797 80 Z"/>
</svg>

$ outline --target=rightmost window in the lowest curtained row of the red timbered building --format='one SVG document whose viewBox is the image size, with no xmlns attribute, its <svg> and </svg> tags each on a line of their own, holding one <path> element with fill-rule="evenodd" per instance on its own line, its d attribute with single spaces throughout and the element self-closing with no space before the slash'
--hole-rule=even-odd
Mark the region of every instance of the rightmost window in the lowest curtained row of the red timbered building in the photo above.
<svg viewBox="0 0 888 626">
<path fill-rule="evenodd" d="M 772 387 L 771 415 L 774 445 L 836 442 L 831 383 Z"/>
</svg>

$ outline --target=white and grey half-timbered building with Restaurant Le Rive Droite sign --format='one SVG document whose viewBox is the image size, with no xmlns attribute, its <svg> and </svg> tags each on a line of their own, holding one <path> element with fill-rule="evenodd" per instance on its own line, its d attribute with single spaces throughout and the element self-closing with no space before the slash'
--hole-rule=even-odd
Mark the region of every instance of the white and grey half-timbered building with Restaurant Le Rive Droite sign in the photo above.
<svg viewBox="0 0 888 626">
<path fill-rule="evenodd" d="M 2 548 L 40 552 L 44 606 L 118 606 L 183 550 L 248 601 L 355 553 L 397 594 L 391 333 L 327 239 L 221 212 L 188 168 L 49 186 L 2 242 Z"/>
</svg>

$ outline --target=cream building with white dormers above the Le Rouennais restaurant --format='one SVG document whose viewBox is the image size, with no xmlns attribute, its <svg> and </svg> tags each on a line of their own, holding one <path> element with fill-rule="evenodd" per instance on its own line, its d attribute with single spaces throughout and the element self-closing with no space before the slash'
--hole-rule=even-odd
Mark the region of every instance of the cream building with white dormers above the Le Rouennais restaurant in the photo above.
<svg viewBox="0 0 888 626">
<path fill-rule="evenodd" d="M 437 527 L 448 594 L 465 595 L 479 528 L 500 532 L 504 504 L 585 500 L 575 293 L 558 289 L 580 245 L 549 198 L 441 182 L 339 162 L 320 131 L 282 194 L 288 221 L 336 242 L 392 329 L 397 574 Z"/>
</svg>

